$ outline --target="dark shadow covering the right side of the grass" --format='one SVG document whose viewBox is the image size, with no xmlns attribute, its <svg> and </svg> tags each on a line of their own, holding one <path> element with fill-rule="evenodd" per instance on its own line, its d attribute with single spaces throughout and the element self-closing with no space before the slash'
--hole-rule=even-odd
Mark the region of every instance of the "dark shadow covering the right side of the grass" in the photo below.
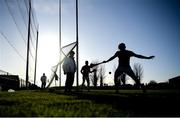
<svg viewBox="0 0 180 118">
<path fill-rule="evenodd" d="M 139 90 L 140 91 L 140 90 Z M 57 94 L 64 94 L 56 91 Z M 95 103 L 111 104 L 117 111 L 130 116 L 174 117 L 180 116 L 179 92 L 151 93 L 108 93 L 104 91 L 73 92 L 66 95 L 77 96 L 79 99 L 92 100 Z"/>
</svg>

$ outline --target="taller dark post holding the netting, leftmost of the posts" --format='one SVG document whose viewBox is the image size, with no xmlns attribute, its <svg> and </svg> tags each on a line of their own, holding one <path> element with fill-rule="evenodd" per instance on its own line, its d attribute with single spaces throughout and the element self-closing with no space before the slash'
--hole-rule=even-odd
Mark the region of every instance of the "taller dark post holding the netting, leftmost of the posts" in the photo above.
<svg viewBox="0 0 180 118">
<path fill-rule="evenodd" d="M 31 0 L 29 0 L 29 21 L 28 21 L 28 40 L 27 40 L 27 59 L 26 59 L 26 88 L 29 81 L 29 43 L 30 43 L 30 28 L 31 26 Z"/>
</svg>

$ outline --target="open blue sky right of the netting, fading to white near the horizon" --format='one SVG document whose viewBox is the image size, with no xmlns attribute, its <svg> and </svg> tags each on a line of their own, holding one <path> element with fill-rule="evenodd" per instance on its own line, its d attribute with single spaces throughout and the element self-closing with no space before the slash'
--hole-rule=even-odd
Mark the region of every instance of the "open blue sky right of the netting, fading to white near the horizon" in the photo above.
<svg viewBox="0 0 180 118">
<path fill-rule="evenodd" d="M 39 22 L 37 84 L 40 76 L 50 77 L 59 60 L 59 0 L 34 0 Z M 76 41 L 75 0 L 62 0 L 62 46 Z M 79 0 L 79 69 L 88 60 L 103 61 L 125 43 L 127 50 L 151 56 L 153 60 L 131 58 L 131 66 L 143 66 L 142 82 L 166 82 L 180 75 L 179 0 Z M 104 64 L 105 82 L 113 84 L 118 59 Z M 79 77 L 82 82 L 81 74 Z M 128 79 L 129 83 L 132 79 Z M 62 75 L 62 85 L 65 76 Z M 75 82 L 76 83 L 76 80 Z"/>
</svg>

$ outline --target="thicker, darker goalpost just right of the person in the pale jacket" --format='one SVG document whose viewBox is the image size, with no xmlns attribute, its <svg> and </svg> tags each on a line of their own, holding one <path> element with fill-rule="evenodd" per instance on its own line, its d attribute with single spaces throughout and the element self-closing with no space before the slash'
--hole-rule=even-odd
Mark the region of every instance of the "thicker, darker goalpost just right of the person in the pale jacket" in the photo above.
<svg viewBox="0 0 180 118">
<path fill-rule="evenodd" d="M 76 0 L 76 61 L 77 61 L 77 72 L 76 72 L 76 79 L 77 79 L 77 87 L 79 86 L 79 32 L 78 32 L 78 0 Z"/>
</svg>

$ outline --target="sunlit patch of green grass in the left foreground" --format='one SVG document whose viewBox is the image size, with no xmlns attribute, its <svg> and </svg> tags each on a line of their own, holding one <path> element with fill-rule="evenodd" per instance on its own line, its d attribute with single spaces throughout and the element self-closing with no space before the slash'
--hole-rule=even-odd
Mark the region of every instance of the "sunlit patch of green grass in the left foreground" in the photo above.
<svg viewBox="0 0 180 118">
<path fill-rule="evenodd" d="M 0 116 L 128 116 L 110 104 L 41 91 L 0 92 Z"/>
</svg>

